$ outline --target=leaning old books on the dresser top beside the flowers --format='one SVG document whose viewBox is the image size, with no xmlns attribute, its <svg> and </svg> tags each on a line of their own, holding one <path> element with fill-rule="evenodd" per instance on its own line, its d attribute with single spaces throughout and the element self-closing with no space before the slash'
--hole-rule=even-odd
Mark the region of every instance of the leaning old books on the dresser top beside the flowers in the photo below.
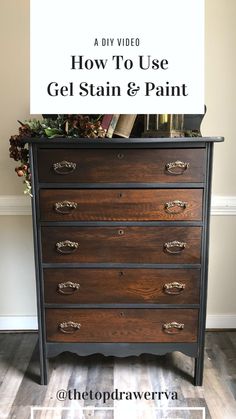
<svg viewBox="0 0 236 419">
<path fill-rule="evenodd" d="M 104 115 L 102 127 L 106 130 L 106 137 L 124 137 L 129 138 L 133 129 L 137 115 Z"/>
</svg>

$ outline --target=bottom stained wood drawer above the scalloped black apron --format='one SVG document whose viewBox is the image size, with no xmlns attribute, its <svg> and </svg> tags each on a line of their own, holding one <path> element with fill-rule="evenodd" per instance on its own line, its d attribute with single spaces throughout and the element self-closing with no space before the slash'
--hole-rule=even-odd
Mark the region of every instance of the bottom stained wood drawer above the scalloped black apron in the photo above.
<svg viewBox="0 0 236 419">
<path fill-rule="evenodd" d="M 196 342 L 198 310 L 47 309 L 48 342 Z"/>
</svg>

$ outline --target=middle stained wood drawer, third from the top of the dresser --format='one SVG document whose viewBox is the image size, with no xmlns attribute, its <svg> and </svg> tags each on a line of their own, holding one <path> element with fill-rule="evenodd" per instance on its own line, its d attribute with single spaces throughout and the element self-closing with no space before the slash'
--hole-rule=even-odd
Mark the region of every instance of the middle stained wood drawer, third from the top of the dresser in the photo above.
<svg viewBox="0 0 236 419">
<path fill-rule="evenodd" d="M 46 263 L 199 263 L 201 227 L 42 227 Z"/>
</svg>

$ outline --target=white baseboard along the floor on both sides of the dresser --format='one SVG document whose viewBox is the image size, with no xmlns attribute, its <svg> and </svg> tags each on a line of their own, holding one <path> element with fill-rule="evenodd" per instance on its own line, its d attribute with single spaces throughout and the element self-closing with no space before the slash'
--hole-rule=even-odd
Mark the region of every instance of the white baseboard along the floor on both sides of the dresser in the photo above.
<svg viewBox="0 0 236 419">
<path fill-rule="evenodd" d="M 207 329 L 236 329 L 236 314 L 209 314 Z M 0 316 L 0 331 L 38 330 L 37 316 Z"/>
</svg>

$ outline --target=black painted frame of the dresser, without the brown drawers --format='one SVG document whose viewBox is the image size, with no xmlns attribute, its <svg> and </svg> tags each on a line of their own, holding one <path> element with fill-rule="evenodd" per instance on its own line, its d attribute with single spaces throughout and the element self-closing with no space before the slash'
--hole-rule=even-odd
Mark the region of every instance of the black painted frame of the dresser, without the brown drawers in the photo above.
<svg viewBox="0 0 236 419">
<path fill-rule="evenodd" d="M 33 210 L 33 230 L 34 230 L 34 250 L 35 250 L 35 267 L 36 267 L 36 282 L 37 282 L 37 308 L 38 308 L 38 325 L 39 325 L 39 352 L 40 352 L 40 372 L 41 384 L 47 384 L 48 368 L 47 359 L 58 355 L 63 351 L 71 351 L 78 355 L 90 355 L 94 353 L 101 353 L 104 355 L 113 355 L 118 357 L 125 357 L 130 355 L 140 355 L 142 353 L 150 353 L 155 355 L 163 355 L 168 352 L 180 351 L 188 356 L 195 358 L 194 369 L 194 385 L 201 386 L 203 380 L 203 366 L 204 366 L 204 337 L 205 337 L 205 319 L 206 319 L 206 301 L 207 301 L 207 277 L 208 277 L 208 247 L 209 247 L 209 218 L 210 218 L 210 200 L 211 200 L 211 176 L 212 176 L 212 158 L 214 142 L 223 141 L 222 137 L 201 137 L 201 138 L 155 138 L 155 139 L 112 139 L 112 140 L 88 140 L 88 139 L 27 139 L 30 149 L 30 165 L 32 172 L 32 210 Z M 45 308 L 56 308 L 56 304 L 44 304 L 43 298 L 43 268 L 53 268 L 58 264 L 43 264 L 41 253 L 41 235 L 39 223 L 39 188 L 58 188 L 58 183 L 39 183 L 38 180 L 38 166 L 37 166 L 37 150 L 38 148 L 204 148 L 206 150 L 206 173 L 205 181 L 203 183 L 171 183 L 168 188 L 203 188 L 203 219 L 202 221 L 174 221 L 168 222 L 168 226 L 200 226 L 202 227 L 202 246 L 201 246 L 201 264 L 199 265 L 160 265 L 160 264 L 122 264 L 123 268 L 197 268 L 201 269 L 200 279 L 200 304 L 145 304 L 146 308 L 198 308 L 199 322 L 198 322 L 198 339 L 194 343 L 47 343 L 45 330 Z M 63 183 L 63 188 L 164 188 L 166 184 L 150 183 L 142 184 L 80 184 L 80 183 Z M 50 226 L 51 222 L 41 222 L 41 226 Z M 55 225 L 55 222 L 53 222 Z M 67 226 L 68 222 L 56 222 L 58 226 Z M 73 222 L 74 226 L 96 226 L 98 222 Z M 99 222 L 99 225 L 107 225 L 107 222 Z M 109 225 L 118 225 L 120 222 L 110 222 Z M 124 225 L 166 225 L 163 221 L 146 221 L 146 222 L 122 222 Z M 73 268 L 91 268 L 94 264 L 73 264 Z M 99 264 L 100 268 L 117 268 L 119 264 Z M 60 267 L 64 264 L 60 264 Z M 60 308 L 96 308 L 95 304 L 60 304 Z M 99 308 L 109 308 L 111 304 L 99 304 Z M 143 308 L 142 304 L 119 304 L 119 308 Z"/>
</svg>

